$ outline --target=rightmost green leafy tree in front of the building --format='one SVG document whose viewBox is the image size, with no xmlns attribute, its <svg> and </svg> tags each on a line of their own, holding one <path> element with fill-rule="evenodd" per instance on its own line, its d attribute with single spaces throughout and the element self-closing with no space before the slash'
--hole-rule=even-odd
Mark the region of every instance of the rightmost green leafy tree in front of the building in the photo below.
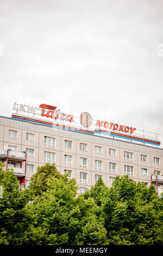
<svg viewBox="0 0 163 256">
<path fill-rule="evenodd" d="M 102 198 L 101 214 L 112 245 L 162 245 L 162 200 L 154 186 L 123 176 Z"/>
</svg>

